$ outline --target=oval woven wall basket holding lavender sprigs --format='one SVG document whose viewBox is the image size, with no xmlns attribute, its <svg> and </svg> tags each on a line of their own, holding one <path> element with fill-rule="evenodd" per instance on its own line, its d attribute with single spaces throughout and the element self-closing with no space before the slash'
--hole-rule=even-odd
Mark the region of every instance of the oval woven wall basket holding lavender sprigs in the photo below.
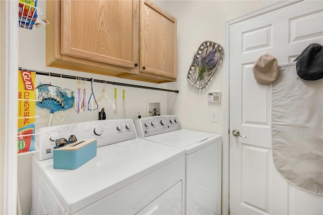
<svg viewBox="0 0 323 215">
<path fill-rule="evenodd" d="M 203 42 L 194 53 L 187 73 L 187 81 L 197 89 L 203 89 L 216 71 L 223 55 L 223 47 L 212 41 Z"/>
</svg>

